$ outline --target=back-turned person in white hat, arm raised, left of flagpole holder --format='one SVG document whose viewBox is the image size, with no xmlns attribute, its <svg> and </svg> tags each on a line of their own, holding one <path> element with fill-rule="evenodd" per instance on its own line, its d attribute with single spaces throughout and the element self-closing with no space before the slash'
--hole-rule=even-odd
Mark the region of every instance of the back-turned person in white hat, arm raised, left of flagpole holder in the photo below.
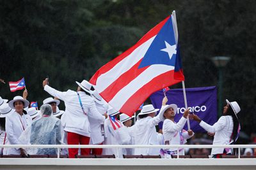
<svg viewBox="0 0 256 170">
<path fill-rule="evenodd" d="M 167 98 L 164 97 L 163 103 L 167 102 Z M 156 125 L 163 121 L 163 117 L 156 112 L 159 109 L 155 109 L 152 104 L 143 106 L 141 112 L 137 116 L 137 122 L 134 125 L 134 141 L 135 145 L 159 145 L 159 133 L 156 132 Z M 135 148 L 134 155 L 159 155 L 160 148 Z"/>
</svg>

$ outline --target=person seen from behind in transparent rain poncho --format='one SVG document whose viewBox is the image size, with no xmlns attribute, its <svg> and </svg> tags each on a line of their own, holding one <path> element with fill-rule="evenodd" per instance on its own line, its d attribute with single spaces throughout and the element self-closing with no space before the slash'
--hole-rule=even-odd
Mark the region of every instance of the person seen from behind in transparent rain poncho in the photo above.
<svg viewBox="0 0 256 170">
<path fill-rule="evenodd" d="M 61 122 L 60 119 L 52 117 L 50 104 L 41 106 L 42 118 L 31 125 L 30 143 L 32 145 L 60 145 L 61 144 Z M 38 148 L 38 155 L 57 154 L 56 148 Z"/>
</svg>

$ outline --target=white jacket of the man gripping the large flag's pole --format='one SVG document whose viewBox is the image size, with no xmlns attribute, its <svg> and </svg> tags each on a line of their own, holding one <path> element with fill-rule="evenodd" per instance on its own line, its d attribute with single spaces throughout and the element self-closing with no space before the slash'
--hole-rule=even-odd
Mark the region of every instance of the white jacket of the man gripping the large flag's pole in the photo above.
<svg viewBox="0 0 256 170">
<path fill-rule="evenodd" d="M 186 143 L 186 139 L 191 138 L 188 132 L 182 130 L 184 125 L 186 124 L 186 118 L 181 117 L 179 122 L 176 124 L 172 120 L 166 118 L 163 123 L 163 136 L 164 136 L 164 144 L 167 145 L 183 145 Z M 182 133 L 182 138 L 184 141 L 180 140 L 180 133 Z M 177 151 L 177 148 L 170 148 L 170 151 Z M 176 155 L 176 154 L 173 154 Z M 184 150 L 181 150 L 180 155 L 184 155 Z"/>
</svg>

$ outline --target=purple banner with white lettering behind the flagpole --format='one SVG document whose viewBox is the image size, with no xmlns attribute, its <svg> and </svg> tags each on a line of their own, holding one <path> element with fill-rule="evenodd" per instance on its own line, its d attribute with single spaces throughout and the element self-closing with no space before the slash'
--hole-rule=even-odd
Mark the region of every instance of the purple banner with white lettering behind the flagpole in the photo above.
<svg viewBox="0 0 256 170">
<path fill-rule="evenodd" d="M 217 122 L 217 89 L 213 87 L 198 87 L 186 89 L 188 108 L 191 113 L 195 113 L 207 124 L 213 125 Z M 150 100 L 155 108 L 161 108 L 164 93 L 159 90 L 150 96 Z M 182 89 L 171 89 L 166 92 L 167 104 L 177 104 L 178 110 L 175 115 L 175 122 L 179 122 L 185 111 L 184 96 Z M 194 132 L 205 132 L 194 120 L 190 121 L 190 127 Z M 163 122 L 159 123 L 162 129 Z M 188 130 L 188 125 L 184 126 Z"/>
</svg>

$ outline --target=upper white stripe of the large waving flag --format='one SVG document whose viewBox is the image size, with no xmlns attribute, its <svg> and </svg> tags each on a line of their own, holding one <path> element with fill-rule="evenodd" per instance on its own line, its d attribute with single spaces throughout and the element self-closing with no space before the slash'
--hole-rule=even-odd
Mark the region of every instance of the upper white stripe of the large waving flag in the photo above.
<svg viewBox="0 0 256 170">
<path fill-rule="evenodd" d="M 126 71 L 129 71 L 134 64 L 144 57 L 155 37 L 156 36 L 148 39 L 148 41 L 138 46 L 138 48 L 136 48 L 130 55 L 118 62 L 118 64 L 116 64 L 108 72 L 101 74 L 99 78 L 97 78 L 97 85 L 95 86 L 95 89 L 99 93 L 104 91 L 109 85 L 111 85 L 111 83 L 113 83 L 113 81 L 118 79 L 119 76 L 124 74 Z"/>
</svg>

